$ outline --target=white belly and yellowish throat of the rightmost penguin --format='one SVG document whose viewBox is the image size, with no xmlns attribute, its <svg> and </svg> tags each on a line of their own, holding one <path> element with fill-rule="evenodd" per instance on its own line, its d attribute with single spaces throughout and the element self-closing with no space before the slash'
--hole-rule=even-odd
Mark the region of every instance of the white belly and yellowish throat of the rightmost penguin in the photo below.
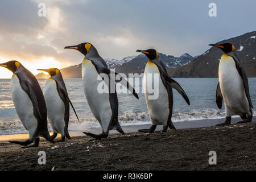
<svg viewBox="0 0 256 182">
<path fill-rule="evenodd" d="M 221 93 L 225 106 L 228 106 L 228 114 L 243 114 L 249 111 L 249 103 L 246 98 L 243 80 L 237 71 L 233 57 L 222 55 L 218 68 Z"/>
</svg>

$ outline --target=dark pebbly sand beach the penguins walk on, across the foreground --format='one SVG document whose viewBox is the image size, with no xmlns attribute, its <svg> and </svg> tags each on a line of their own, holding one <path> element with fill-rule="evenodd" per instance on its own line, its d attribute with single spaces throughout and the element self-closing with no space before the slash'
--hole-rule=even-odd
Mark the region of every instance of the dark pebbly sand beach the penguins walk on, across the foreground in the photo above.
<svg viewBox="0 0 256 182">
<path fill-rule="evenodd" d="M 20 148 L 0 143 L 1 170 L 255 170 L 256 122 L 153 134 L 73 137 L 63 143 Z M 46 165 L 38 152 L 46 151 Z M 209 165 L 209 151 L 217 164 Z"/>
</svg>

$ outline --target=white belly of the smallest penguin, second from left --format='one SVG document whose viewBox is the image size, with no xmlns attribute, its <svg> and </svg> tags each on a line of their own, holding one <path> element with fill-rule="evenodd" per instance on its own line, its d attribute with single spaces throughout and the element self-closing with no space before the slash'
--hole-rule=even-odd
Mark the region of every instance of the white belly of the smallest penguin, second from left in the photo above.
<svg viewBox="0 0 256 182">
<path fill-rule="evenodd" d="M 56 81 L 49 78 L 44 85 L 43 93 L 46 100 L 47 116 L 53 132 L 65 136 L 65 105 L 57 91 Z"/>
</svg>

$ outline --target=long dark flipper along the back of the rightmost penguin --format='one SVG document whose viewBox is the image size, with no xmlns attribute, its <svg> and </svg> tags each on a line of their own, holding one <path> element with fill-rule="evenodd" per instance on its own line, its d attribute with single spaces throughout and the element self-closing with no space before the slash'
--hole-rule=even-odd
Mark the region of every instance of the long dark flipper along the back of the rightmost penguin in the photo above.
<svg viewBox="0 0 256 182">
<path fill-rule="evenodd" d="M 230 53 L 228 53 L 228 55 L 233 57 L 233 60 L 236 63 L 237 72 L 239 73 L 239 75 L 241 76 L 241 78 L 243 80 L 243 86 L 245 88 L 245 94 L 246 94 L 247 100 L 249 102 L 250 107 L 253 108 L 253 104 L 252 104 L 251 98 L 250 98 L 248 78 L 246 76 L 245 70 L 242 67 L 241 61 L 238 59 L 236 52 L 230 52 Z"/>
</svg>

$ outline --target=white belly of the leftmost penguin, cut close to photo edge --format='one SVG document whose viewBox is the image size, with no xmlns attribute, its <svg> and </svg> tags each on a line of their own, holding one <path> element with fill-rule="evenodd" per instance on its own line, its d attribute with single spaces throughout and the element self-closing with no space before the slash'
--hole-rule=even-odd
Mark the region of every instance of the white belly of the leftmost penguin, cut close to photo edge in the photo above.
<svg viewBox="0 0 256 182">
<path fill-rule="evenodd" d="M 34 115 L 34 107 L 30 97 L 20 86 L 19 78 L 13 74 L 11 77 L 11 96 L 20 121 L 30 135 L 34 135 L 38 120 Z"/>
</svg>

